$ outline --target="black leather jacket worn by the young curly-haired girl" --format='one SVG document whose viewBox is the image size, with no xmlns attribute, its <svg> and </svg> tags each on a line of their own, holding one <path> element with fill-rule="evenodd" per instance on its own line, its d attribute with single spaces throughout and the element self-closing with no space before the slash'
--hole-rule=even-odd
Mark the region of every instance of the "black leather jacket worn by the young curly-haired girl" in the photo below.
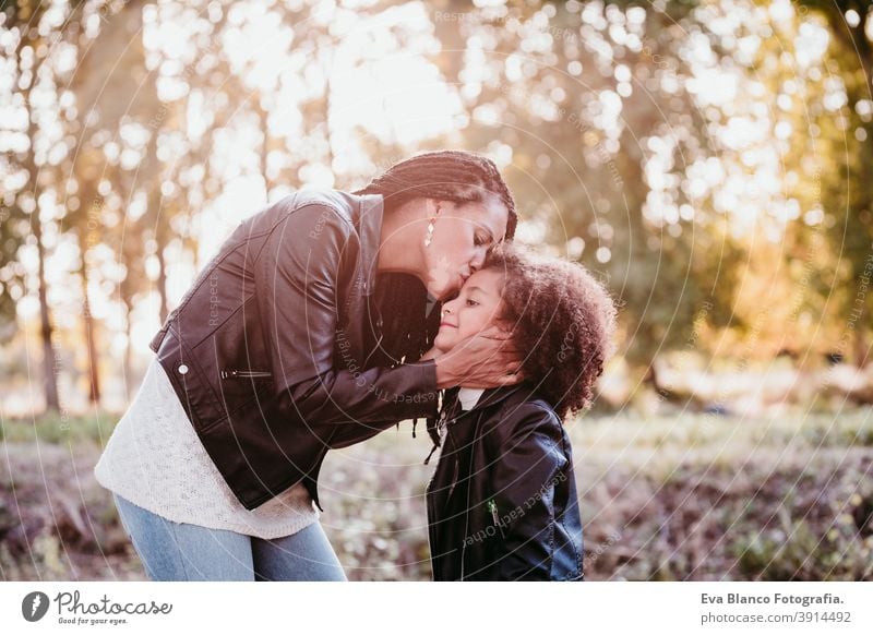
<svg viewBox="0 0 873 635">
<path fill-rule="evenodd" d="M 427 490 L 433 579 L 581 580 L 573 456 L 554 411 L 529 384 L 452 408 Z"/>
</svg>

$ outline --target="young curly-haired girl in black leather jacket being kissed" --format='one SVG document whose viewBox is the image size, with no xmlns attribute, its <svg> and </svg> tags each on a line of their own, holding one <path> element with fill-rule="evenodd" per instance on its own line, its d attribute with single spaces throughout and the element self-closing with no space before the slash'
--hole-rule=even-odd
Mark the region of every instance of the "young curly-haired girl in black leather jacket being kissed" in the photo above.
<svg viewBox="0 0 873 635">
<path fill-rule="evenodd" d="M 562 420 L 590 406 L 614 324 L 609 293 L 582 265 L 509 245 L 443 305 L 430 355 L 503 331 L 523 354 L 524 381 L 451 388 L 439 422 L 428 421 L 442 445 L 427 493 L 433 579 L 583 579 Z"/>
</svg>

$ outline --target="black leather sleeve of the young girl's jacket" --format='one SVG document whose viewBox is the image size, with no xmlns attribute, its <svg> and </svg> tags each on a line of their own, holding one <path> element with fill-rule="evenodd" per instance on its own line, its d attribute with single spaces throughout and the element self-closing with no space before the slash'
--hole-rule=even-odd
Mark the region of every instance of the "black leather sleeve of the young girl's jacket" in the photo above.
<svg viewBox="0 0 873 635">
<path fill-rule="evenodd" d="M 495 536 L 501 580 L 551 579 L 554 551 L 554 490 L 566 478 L 561 423 L 553 411 L 523 404 L 497 422 L 509 430 L 487 441 L 490 482 L 498 517 Z M 498 432 L 497 430 L 494 432 Z M 499 442 L 498 442 L 499 440 Z"/>
</svg>

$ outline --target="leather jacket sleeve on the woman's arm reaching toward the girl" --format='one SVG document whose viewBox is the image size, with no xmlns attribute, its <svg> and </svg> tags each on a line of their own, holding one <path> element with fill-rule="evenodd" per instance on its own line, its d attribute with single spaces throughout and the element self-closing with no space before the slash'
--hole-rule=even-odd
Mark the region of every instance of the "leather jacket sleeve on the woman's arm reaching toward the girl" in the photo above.
<svg viewBox="0 0 873 635">
<path fill-rule="evenodd" d="M 323 439 L 334 428 L 344 444 L 399 420 L 435 417 L 438 402 L 432 360 L 358 370 L 334 358 L 340 262 L 345 250 L 357 252 L 354 231 L 331 207 L 306 205 L 273 229 L 255 268 L 279 412 Z"/>
</svg>

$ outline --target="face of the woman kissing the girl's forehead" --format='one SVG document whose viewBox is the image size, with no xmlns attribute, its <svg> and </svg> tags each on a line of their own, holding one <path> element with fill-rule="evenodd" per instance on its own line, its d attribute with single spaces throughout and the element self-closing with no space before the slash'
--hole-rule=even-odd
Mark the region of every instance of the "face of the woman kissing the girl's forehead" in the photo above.
<svg viewBox="0 0 873 635">
<path fill-rule="evenodd" d="M 488 250 L 503 240 L 509 215 L 498 196 L 482 203 L 440 203 L 433 238 L 424 249 L 426 284 L 431 297 L 451 298 L 481 268 Z"/>
</svg>

